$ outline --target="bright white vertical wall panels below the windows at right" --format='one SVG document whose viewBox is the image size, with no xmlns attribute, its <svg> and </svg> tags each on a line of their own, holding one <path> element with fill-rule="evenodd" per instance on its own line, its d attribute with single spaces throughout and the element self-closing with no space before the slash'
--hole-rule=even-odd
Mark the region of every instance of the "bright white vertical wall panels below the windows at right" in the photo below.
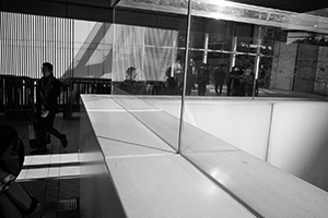
<svg viewBox="0 0 328 218">
<path fill-rule="evenodd" d="M 161 98 L 148 101 L 178 117 L 179 105 L 172 99 L 167 106 Z M 196 126 L 328 191 L 327 101 L 188 98 L 186 111 Z"/>
</svg>

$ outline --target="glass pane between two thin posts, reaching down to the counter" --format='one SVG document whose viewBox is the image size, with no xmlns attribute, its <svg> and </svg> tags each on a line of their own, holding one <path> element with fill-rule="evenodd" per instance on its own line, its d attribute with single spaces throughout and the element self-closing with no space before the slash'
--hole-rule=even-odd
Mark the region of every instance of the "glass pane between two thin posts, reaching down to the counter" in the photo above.
<svg viewBox="0 0 328 218">
<path fill-rule="evenodd" d="M 178 47 L 181 37 L 173 29 L 120 24 L 115 24 L 113 35 L 115 101 L 150 130 L 145 131 L 145 135 L 162 138 L 163 134 L 168 134 L 169 138 L 165 137 L 163 144 L 178 150 L 185 64 L 185 45 Z M 172 99 L 175 99 L 174 104 L 167 105 Z M 163 131 L 159 123 L 168 123 L 169 131 Z M 141 146 L 163 149 L 163 145 L 150 141 Z"/>
</svg>

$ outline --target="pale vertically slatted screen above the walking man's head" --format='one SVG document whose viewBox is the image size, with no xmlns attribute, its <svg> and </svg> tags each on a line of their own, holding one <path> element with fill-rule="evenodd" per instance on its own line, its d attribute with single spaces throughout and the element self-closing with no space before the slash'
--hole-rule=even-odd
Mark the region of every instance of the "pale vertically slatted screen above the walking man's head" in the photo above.
<svg viewBox="0 0 328 218">
<path fill-rule="evenodd" d="M 73 28 L 70 19 L 0 12 L 0 74 L 38 78 L 43 62 L 56 77 L 71 77 Z"/>
</svg>

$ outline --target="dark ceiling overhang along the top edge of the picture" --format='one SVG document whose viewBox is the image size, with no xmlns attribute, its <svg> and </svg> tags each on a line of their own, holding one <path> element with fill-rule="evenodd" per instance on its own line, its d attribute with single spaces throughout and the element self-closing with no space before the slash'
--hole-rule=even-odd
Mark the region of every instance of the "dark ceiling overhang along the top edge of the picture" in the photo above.
<svg viewBox="0 0 328 218">
<path fill-rule="evenodd" d="M 147 11 L 133 7 L 125 8 L 121 7 L 121 2 L 125 1 L 126 0 L 0 0 L 0 11 L 160 28 L 178 28 L 177 25 L 185 26 L 185 19 L 181 19 L 181 14 L 169 14 L 169 11 Z M 137 3 L 142 2 L 142 0 L 131 1 Z M 186 4 L 188 2 L 188 0 L 150 0 L 150 2 L 151 1 L 164 2 L 166 4 L 176 2 L 184 2 Z M 197 1 L 201 2 L 203 0 L 192 0 L 192 2 Z M 218 2 L 219 0 L 211 1 Z M 232 2 L 298 13 L 328 8 L 327 0 L 232 0 Z M 296 22 L 298 22 L 298 20 L 296 20 Z M 328 28 L 326 27 L 326 23 L 327 22 L 324 23 L 325 28 Z"/>
</svg>

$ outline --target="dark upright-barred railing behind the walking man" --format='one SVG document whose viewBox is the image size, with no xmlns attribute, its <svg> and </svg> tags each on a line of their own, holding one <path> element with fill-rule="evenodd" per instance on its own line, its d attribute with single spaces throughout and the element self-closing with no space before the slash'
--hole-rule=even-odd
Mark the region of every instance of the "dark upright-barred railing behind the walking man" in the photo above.
<svg viewBox="0 0 328 218">
<path fill-rule="evenodd" d="M 36 78 L 15 75 L 0 75 L 0 112 L 34 112 L 36 100 Z M 59 111 L 65 119 L 71 119 L 72 112 L 80 111 L 81 94 L 110 94 L 110 78 L 70 77 L 60 80 L 61 94 L 58 98 Z M 115 82 L 115 89 L 121 82 Z M 157 95 L 164 82 L 143 82 L 136 95 Z"/>
</svg>

